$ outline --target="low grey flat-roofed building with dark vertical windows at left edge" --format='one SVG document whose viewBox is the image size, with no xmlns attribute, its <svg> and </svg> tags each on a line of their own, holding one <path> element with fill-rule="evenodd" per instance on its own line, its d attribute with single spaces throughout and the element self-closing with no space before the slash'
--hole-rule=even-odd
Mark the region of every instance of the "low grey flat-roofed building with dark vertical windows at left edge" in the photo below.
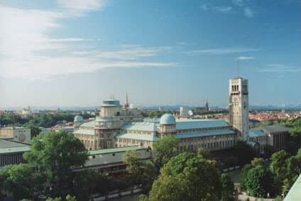
<svg viewBox="0 0 301 201">
<path fill-rule="evenodd" d="M 0 167 L 26 163 L 23 153 L 29 151 L 29 149 L 30 146 L 26 144 L 0 139 Z"/>
</svg>

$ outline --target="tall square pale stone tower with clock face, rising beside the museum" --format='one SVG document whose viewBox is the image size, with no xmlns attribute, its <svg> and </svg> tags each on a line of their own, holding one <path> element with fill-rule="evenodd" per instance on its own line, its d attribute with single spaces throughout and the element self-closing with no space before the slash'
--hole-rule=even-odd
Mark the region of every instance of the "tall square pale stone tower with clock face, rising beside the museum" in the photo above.
<svg viewBox="0 0 301 201">
<path fill-rule="evenodd" d="M 229 121 L 238 138 L 248 141 L 248 80 L 242 77 L 229 80 Z"/>
</svg>

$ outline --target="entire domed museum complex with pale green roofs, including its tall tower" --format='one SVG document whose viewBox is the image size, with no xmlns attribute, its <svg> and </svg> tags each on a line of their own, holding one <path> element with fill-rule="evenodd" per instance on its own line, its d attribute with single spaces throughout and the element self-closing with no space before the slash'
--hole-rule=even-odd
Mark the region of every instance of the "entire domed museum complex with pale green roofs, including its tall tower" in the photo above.
<svg viewBox="0 0 301 201">
<path fill-rule="evenodd" d="M 164 114 L 160 119 L 143 119 L 138 109 L 121 106 L 119 100 L 106 99 L 99 115 L 84 122 L 75 116 L 75 136 L 89 150 L 142 145 L 152 147 L 154 141 L 167 134 L 180 138 L 180 149 L 207 148 L 211 151 L 231 148 L 237 140 L 247 141 L 263 153 L 266 144 L 283 146 L 288 132 L 268 133 L 268 129 L 249 131 L 248 80 L 229 80 L 229 122 L 224 120 L 175 119 Z M 277 129 L 276 129 L 277 130 Z"/>
</svg>

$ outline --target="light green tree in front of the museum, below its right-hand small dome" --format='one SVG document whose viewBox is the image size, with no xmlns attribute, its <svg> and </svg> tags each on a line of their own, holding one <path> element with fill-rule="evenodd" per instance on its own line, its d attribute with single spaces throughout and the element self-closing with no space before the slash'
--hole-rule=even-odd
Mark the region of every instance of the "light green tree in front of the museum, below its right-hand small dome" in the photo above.
<svg viewBox="0 0 301 201">
<path fill-rule="evenodd" d="M 180 139 L 173 135 L 163 136 L 159 141 L 153 143 L 155 151 L 155 162 L 160 168 L 165 163 L 168 163 L 170 158 L 175 156 L 179 147 Z"/>
</svg>

